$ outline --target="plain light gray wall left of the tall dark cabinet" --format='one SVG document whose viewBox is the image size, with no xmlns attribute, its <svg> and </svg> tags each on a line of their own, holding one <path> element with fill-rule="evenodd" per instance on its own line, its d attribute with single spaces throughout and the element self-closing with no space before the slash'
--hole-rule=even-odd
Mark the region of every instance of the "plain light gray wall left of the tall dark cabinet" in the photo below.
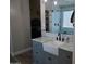
<svg viewBox="0 0 86 64">
<path fill-rule="evenodd" d="M 10 0 L 11 52 L 22 51 L 30 43 L 29 0 Z"/>
</svg>

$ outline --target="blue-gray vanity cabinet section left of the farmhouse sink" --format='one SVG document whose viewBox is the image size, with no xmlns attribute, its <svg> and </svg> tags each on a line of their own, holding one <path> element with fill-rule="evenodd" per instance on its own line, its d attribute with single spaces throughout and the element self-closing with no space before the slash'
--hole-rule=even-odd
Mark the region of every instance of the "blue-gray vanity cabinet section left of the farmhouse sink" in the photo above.
<svg viewBox="0 0 86 64">
<path fill-rule="evenodd" d="M 33 41 L 33 55 L 34 55 L 34 64 L 45 64 L 42 43 Z"/>
</svg>

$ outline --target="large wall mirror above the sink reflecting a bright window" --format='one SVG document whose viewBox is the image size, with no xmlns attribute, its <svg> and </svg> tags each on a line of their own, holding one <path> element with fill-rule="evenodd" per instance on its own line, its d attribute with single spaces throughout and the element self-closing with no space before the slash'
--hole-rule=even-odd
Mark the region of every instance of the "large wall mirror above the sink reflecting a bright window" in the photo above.
<svg viewBox="0 0 86 64">
<path fill-rule="evenodd" d="M 74 12 L 74 0 L 44 0 L 46 33 L 74 34 L 71 16 Z"/>
</svg>

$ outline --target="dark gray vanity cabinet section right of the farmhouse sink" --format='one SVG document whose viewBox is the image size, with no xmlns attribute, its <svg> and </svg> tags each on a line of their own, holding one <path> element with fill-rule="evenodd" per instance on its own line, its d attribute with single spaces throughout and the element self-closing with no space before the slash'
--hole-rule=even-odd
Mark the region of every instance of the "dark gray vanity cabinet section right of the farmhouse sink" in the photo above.
<svg viewBox="0 0 86 64">
<path fill-rule="evenodd" d="M 72 52 L 59 49 L 59 64 L 72 64 Z"/>
</svg>

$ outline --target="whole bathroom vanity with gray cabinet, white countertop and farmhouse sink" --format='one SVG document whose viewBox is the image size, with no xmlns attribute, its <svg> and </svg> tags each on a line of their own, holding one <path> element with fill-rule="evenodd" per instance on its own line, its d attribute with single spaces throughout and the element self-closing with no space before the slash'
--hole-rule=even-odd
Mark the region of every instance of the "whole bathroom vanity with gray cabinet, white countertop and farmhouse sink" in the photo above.
<svg viewBox="0 0 86 64">
<path fill-rule="evenodd" d="M 53 38 L 33 39 L 34 64 L 74 64 L 74 44 Z"/>
</svg>

